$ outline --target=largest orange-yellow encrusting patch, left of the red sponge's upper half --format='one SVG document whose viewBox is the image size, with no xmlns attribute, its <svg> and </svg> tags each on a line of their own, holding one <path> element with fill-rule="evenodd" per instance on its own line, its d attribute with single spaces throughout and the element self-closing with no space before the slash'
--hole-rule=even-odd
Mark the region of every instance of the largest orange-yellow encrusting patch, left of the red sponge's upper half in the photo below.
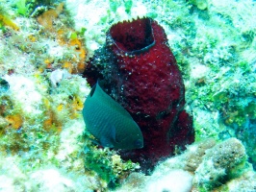
<svg viewBox="0 0 256 192">
<path fill-rule="evenodd" d="M 62 22 L 62 18 L 59 18 L 62 12 L 64 12 L 64 3 L 61 3 L 55 10 L 49 10 L 39 15 L 38 23 L 44 27 L 46 32 L 50 32 L 51 36 L 54 36 L 61 46 L 69 50 L 70 53 L 68 57 L 58 60 L 58 63 L 62 63 L 62 67 L 71 74 L 82 73 L 86 67 L 85 60 L 87 57 L 83 38 L 79 37 L 79 33 L 76 33 Z M 60 23 L 60 25 L 54 25 L 54 23 L 57 22 Z M 54 66 L 52 66 L 53 63 L 55 63 L 54 61 L 55 60 L 44 60 L 46 68 L 54 68 Z"/>
</svg>

